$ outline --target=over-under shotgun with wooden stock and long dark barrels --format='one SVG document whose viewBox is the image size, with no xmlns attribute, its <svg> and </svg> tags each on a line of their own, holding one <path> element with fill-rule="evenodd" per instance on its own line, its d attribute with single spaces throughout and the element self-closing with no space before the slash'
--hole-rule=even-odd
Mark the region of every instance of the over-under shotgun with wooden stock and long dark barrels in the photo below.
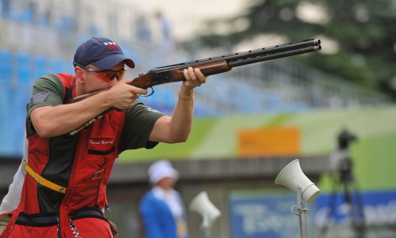
<svg viewBox="0 0 396 238">
<path fill-rule="evenodd" d="M 308 52 L 319 51 L 321 50 L 320 39 L 307 39 L 302 42 L 297 43 L 287 43 L 277 46 L 271 46 L 256 50 L 244 51 L 229 55 L 217 56 L 207 59 L 189 61 L 180 64 L 173 64 L 158 68 L 153 68 L 147 73 L 139 74 L 139 77 L 135 78 L 129 85 L 135 86 L 138 88 L 151 88 L 156 85 L 173 83 L 173 82 L 181 82 L 185 81 L 183 70 L 192 67 L 199 68 L 201 72 L 205 75 L 213 75 L 217 73 L 223 73 L 231 70 L 233 67 L 242 66 L 246 64 L 252 64 L 272 59 L 278 59 L 283 57 L 288 57 L 292 55 L 300 55 Z M 66 103 L 73 103 L 80 101 L 84 98 L 92 96 L 94 94 L 106 91 L 109 89 L 103 89 L 99 91 L 95 91 L 92 93 L 84 94 L 75 98 L 71 98 Z M 152 95 L 154 90 L 150 93 Z M 148 95 L 148 96 L 150 96 Z M 102 117 L 109 111 L 115 108 L 109 108 L 104 111 L 97 117 L 93 118 L 88 123 L 81 126 L 79 129 L 74 130 L 69 133 L 70 135 L 74 135 L 86 128 L 93 122 L 95 122 L 98 118 Z"/>
</svg>

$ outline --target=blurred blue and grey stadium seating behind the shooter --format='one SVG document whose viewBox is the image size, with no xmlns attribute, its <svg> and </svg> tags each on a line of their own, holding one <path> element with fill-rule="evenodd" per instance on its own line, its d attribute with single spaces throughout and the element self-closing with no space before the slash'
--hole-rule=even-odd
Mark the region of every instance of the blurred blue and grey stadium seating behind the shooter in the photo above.
<svg viewBox="0 0 396 238">
<path fill-rule="evenodd" d="M 68 1 L 60 1 L 64 9 L 71 7 Z M 136 77 L 153 67 L 185 62 L 194 59 L 225 55 L 224 49 L 186 51 L 181 47 L 169 52 L 150 38 L 155 19 L 143 16 L 133 4 L 130 14 L 111 15 L 113 7 L 93 8 L 85 2 L 75 2 L 80 11 L 91 11 L 89 22 L 77 12 L 60 11 L 54 14 L 52 8 L 60 8 L 49 0 L 45 1 L 2 1 L 3 26 L 0 37 L 0 84 L 7 92 L 2 97 L 13 100 L 12 110 L 17 118 L 24 118 L 26 93 L 36 78 L 45 73 L 73 73 L 72 59 L 77 46 L 91 36 L 104 34 L 122 46 L 125 55 L 134 59 L 136 68 L 127 72 Z M 106 3 L 103 3 L 106 4 Z M 124 3 L 125 4 L 125 3 Z M 104 16 L 110 24 L 106 24 Z M 134 23 L 145 20 L 147 24 L 137 27 Z M 127 22 L 128 29 L 117 31 L 113 23 Z M 142 41 L 142 26 L 146 27 L 147 41 Z M 139 28 L 139 29 L 138 29 Z M 200 43 L 195 47 L 200 49 Z M 204 55 L 213 54 L 213 55 Z M 141 98 L 149 106 L 171 114 L 177 99 L 179 84 L 158 86 L 151 97 Z M 196 116 L 217 116 L 240 113 L 275 113 L 302 111 L 318 107 L 348 107 L 383 104 L 384 96 L 351 85 L 333 75 L 319 72 L 291 59 L 275 60 L 235 68 L 224 74 L 213 75 L 206 87 L 196 90 Z M 23 99 L 23 100 L 22 100 Z M 2 104 L 2 110 L 9 105 Z M 7 111 L 7 110 L 5 110 Z M 15 135 L 15 128 L 22 127 L 17 118 L 12 125 L 4 127 L 4 134 Z M 5 120 L 5 119 L 3 119 Z M 23 119 L 24 120 L 24 119 Z M 18 123 L 18 124 L 17 124 Z M 17 133 L 16 136 L 22 136 Z M 9 141 L 8 141 L 9 142 Z M 11 147 L 15 151 L 17 144 Z M 4 151 L 0 150 L 0 154 Z"/>
</svg>

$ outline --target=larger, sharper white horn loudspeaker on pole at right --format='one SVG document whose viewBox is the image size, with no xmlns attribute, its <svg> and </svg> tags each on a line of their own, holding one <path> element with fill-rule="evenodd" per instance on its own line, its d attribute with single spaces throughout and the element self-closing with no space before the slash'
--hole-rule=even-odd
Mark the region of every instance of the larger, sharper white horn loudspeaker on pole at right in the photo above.
<svg viewBox="0 0 396 238">
<path fill-rule="evenodd" d="M 294 160 L 286 165 L 276 177 L 275 184 L 286 186 L 295 194 L 298 193 L 300 186 L 303 203 L 311 203 L 320 193 L 319 188 L 301 170 L 299 160 Z"/>
</svg>

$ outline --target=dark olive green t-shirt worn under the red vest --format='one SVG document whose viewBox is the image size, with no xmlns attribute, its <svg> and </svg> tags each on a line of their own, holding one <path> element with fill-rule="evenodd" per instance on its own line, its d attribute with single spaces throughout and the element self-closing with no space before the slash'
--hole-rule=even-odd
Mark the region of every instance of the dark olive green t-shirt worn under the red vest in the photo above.
<svg viewBox="0 0 396 238">
<path fill-rule="evenodd" d="M 26 106 L 27 115 L 37 107 L 63 104 L 64 92 L 60 79 L 53 74 L 38 78 L 33 84 L 30 102 Z M 148 141 L 155 122 L 164 114 L 146 106 L 143 102 L 135 105 L 125 113 L 119 153 L 127 149 L 153 148 L 158 142 Z"/>
</svg>

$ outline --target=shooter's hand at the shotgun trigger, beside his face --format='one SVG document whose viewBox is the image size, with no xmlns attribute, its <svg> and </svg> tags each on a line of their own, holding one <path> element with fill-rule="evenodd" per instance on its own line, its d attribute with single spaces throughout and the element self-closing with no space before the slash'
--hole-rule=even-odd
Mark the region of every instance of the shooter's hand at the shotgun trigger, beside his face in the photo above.
<svg viewBox="0 0 396 238">
<path fill-rule="evenodd" d="M 133 107 L 141 94 L 147 94 L 146 89 L 128 85 L 130 82 L 132 82 L 130 78 L 121 80 L 108 91 L 108 98 L 113 107 L 118 109 Z"/>
</svg>

